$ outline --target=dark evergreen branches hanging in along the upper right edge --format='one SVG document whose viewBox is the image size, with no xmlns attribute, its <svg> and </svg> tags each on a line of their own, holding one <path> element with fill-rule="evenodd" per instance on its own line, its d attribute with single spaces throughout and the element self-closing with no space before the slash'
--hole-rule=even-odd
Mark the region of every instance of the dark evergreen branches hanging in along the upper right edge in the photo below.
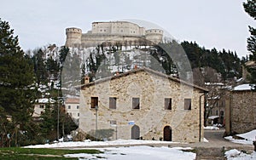
<svg viewBox="0 0 256 160">
<path fill-rule="evenodd" d="M 247 14 L 253 17 L 256 20 L 256 0 L 247 0 L 246 3 L 243 3 L 243 7 Z M 256 61 L 256 28 L 249 26 L 249 31 L 251 36 L 247 38 L 247 50 L 252 53 L 250 56 L 251 60 Z M 256 68 L 249 68 L 248 71 L 251 73 L 250 81 L 254 85 L 256 84 Z"/>
</svg>

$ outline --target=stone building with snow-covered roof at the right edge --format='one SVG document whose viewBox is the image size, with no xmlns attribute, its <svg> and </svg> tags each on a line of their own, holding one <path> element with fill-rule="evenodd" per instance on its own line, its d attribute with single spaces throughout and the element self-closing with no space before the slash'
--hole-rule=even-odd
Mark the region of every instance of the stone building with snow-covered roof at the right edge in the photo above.
<svg viewBox="0 0 256 160">
<path fill-rule="evenodd" d="M 248 83 L 236 86 L 225 103 L 226 134 L 241 134 L 256 129 L 256 92 Z"/>
</svg>

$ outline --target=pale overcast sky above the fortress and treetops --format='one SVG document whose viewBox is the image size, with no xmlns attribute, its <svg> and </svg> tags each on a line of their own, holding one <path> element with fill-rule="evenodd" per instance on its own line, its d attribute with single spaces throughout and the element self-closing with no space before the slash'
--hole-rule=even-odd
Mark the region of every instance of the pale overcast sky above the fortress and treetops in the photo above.
<svg viewBox="0 0 256 160">
<path fill-rule="evenodd" d="M 256 26 L 245 0 L 0 0 L 0 17 L 9 21 L 25 51 L 65 43 L 65 29 L 86 32 L 94 21 L 136 19 L 152 22 L 179 42 L 248 54 L 247 26 Z"/>
</svg>

